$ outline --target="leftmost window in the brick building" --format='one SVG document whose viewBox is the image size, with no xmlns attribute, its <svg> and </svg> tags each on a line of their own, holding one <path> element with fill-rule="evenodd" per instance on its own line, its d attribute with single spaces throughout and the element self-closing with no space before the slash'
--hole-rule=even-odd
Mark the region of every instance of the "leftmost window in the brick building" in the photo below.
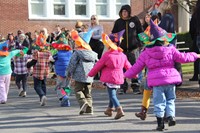
<svg viewBox="0 0 200 133">
<path fill-rule="evenodd" d="M 31 14 L 35 16 L 44 15 L 44 1 L 43 0 L 31 0 Z"/>
</svg>

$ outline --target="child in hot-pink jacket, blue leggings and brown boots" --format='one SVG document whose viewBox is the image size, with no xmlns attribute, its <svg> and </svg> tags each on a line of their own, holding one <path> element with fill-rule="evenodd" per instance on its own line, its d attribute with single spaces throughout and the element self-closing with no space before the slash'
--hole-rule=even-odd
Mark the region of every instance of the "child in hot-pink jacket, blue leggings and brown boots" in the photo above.
<svg viewBox="0 0 200 133">
<path fill-rule="evenodd" d="M 104 82 L 107 86 L 109 95 L 109 105 L 104 114 L 112 116 L 112 112 L 116 109 L 117 114 L 115 119 L 120 119 L 124 116 L 124 111 L 117 99 L 116 91 L 124 82 L 123 68 L 129 69 L 131 64 L 126 55 L 123 54 L 123 50 L 117 47 L 117 42 L 119 41 L 117 37 L 113 36 L 113 41 L 115 42 L 113 43 L 109 37 L 103 33 L 102 41 L 108 48 L 108 51 L 104 53 L 94 68 L 89 72 L 88 76 L 95 76 L 101 71 L 100 81 Z"/>
</svg>

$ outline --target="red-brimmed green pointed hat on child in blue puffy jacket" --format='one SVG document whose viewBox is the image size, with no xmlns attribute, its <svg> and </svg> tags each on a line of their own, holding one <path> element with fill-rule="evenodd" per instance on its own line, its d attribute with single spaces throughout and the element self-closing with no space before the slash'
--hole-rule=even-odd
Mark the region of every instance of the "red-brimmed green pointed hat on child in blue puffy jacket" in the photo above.
<svg viewBox="0 0 200 133">
<path fill-rule="evenodd" d="M 59 40 L 57 42 L 52 43 L 52 47 L 57 50 L 72 50 L 72 48 L 68 45 L 68 41 L 65 37 L 65 34 L 61 34 Z"/>
</svg>

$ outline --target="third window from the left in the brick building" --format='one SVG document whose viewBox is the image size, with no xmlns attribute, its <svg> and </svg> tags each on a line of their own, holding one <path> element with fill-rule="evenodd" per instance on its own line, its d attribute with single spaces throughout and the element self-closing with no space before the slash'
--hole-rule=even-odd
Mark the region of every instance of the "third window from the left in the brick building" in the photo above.
<svg viewBox="0 0 200 133">
<path fill-rule="evenodd" d="M 75 15 L 87 15 L 86 13 L 86 0 L 76 0 L 75 2 Z"/>
</svg>

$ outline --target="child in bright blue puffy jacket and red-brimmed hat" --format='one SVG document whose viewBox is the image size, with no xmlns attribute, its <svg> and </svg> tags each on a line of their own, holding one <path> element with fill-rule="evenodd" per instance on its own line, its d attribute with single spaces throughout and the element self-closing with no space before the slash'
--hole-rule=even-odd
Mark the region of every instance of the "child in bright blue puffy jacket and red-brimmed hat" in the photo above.
<svg viewBox="0 0 200 133">
<path fill-rule="evenodd" d="M 68 41 L 65 35 L 62 33 L 57 42 L 52 44 L 52 47 L 57 49 L 58 52 L 53 56 L 55 60 L 55 73 L 57 75 L 56 91 L 58 98 L 61 102 L 61 106 L 69 105 L 69 94 L 66 94 L 64 88 L 66 87 L 66 68 L 69 64 L 70 58 L 72 56 L 72 49 L 68 45 Z M 64 98 L 65 97 L 65 98 Z"/>
</svg>

